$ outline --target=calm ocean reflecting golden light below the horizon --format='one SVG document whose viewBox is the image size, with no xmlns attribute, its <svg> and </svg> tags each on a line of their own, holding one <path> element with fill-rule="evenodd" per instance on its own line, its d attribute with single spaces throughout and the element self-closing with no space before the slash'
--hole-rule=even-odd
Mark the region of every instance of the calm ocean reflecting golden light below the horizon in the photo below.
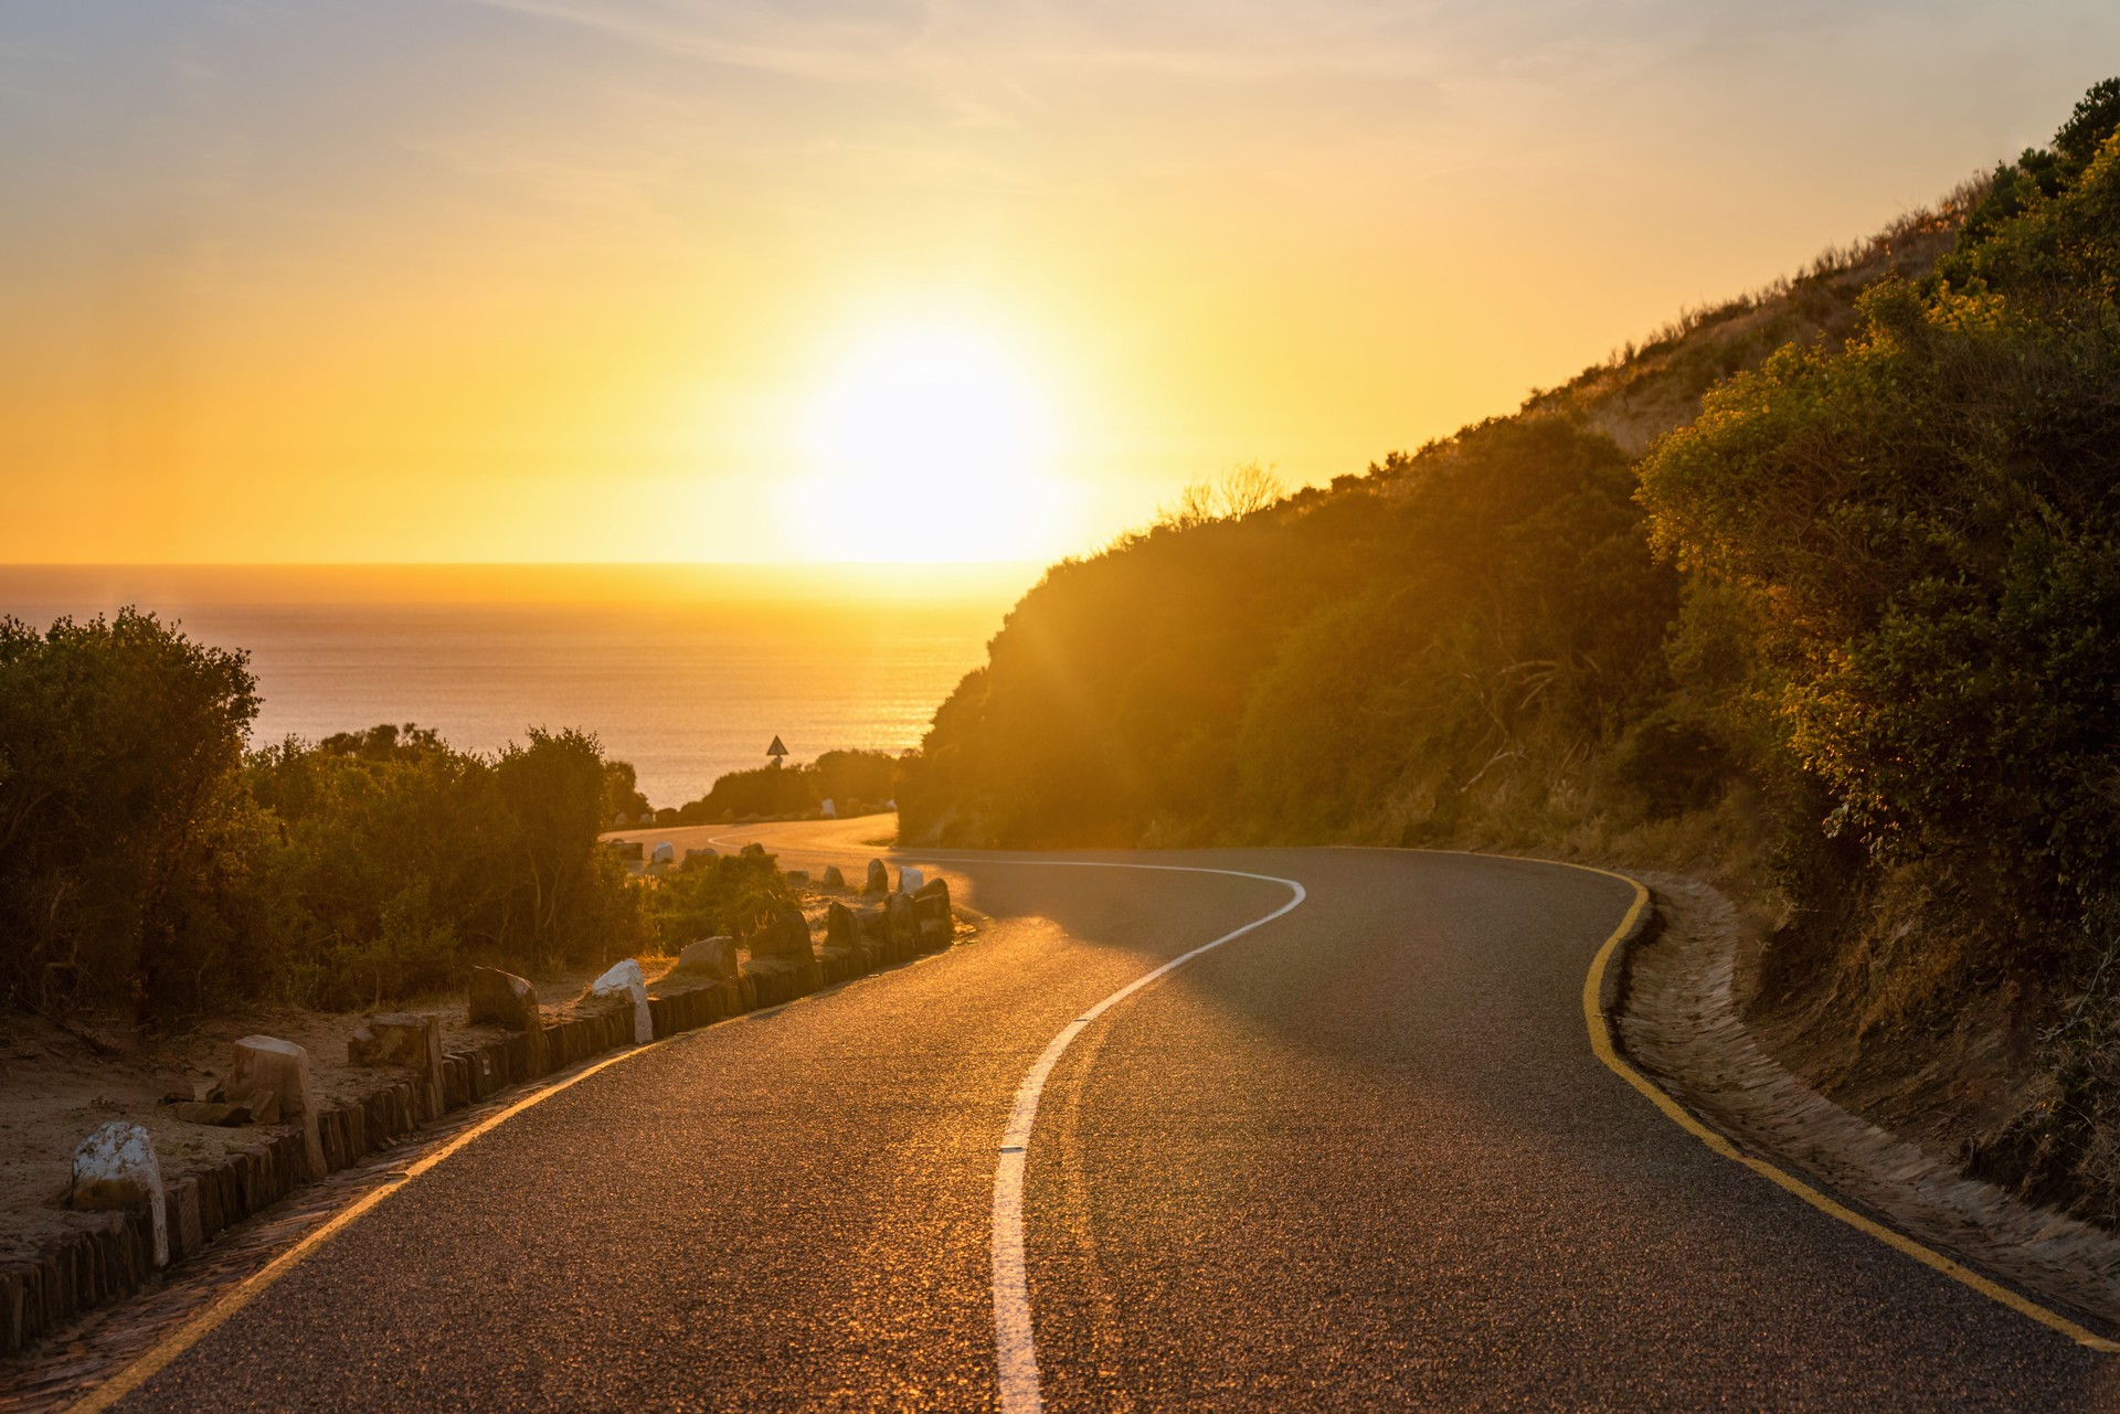
<svg viewBox="0 0 2120 1414">
<path fill-rule="evenodd" d="M 594 731 L 655 806 L 833 748 L 905 750 L 1037 566 L 0 566 L 0 615 L 123 604 L 250 653 L 252 744 L 375 723 L 490 753 Z"/>
</svg>

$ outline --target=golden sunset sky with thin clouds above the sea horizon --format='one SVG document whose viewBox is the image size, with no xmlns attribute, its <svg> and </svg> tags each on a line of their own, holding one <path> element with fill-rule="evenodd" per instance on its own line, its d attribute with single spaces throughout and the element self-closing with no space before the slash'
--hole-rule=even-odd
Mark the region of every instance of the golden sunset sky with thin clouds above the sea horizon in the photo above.
<svg viewBox="0 0 2120 1414">
<path fill-rule="evenodd" d="M 0 558 L 1013 560 L 2044 142 L 2112 0 L 0 11 Z"/>
</svg>

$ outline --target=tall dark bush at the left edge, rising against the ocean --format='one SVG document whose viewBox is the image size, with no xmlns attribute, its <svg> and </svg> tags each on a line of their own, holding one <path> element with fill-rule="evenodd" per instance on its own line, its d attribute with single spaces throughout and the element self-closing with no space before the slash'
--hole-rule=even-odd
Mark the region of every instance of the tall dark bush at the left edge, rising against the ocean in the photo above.
<svg viewBox="0 0 2120 1414">
<path fill-rule="evenodd" d="M 13 1005 L 193 1011 L 242 986 L 257 850 L 242 653 L 131 608 L 0 621 L 0 967 Z"/>
</svg>

